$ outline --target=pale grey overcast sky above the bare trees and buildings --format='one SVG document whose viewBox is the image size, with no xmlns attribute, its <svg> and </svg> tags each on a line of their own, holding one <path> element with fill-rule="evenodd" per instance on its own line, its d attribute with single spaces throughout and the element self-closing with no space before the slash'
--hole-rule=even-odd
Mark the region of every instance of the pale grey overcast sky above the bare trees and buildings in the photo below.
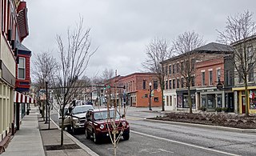
<svg viewBox="0 0 256 156">
<path fill-rule="evenodd" d="M 26 0 L 30 35 L 22 42 L 32 53 L 52 51 L 58 58 L 56 34 L 66 35 L 79 14 L 91 28 L 92 50 L 99 47 L 86 76 L 105 68 L 126 75 L 143 70 L 145 46 L 155 37 L 173 40 L 194 30 L 215 42 L 227 16 L 250 10 L 255 0 Z M 32 55 L 32 61 L 34 60 Z M 33 66 L 32 66 L 33 67 Z"/>
</svg>

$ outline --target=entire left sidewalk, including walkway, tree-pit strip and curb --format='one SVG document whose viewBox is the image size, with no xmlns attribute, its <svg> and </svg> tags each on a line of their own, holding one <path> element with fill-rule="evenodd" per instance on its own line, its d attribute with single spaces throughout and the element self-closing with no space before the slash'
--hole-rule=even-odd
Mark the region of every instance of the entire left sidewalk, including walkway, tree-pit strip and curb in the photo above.
<svg viewBox="0 0 256 156">
<path fill-rule="evenodd" d="M 61 130 L 54 122 L 45 123 L 35 106 L 22 118 L 20 130 L 14 134 L 3 156 L 98 156 L 72 135 L 64 131 L 64 146 L 60 147 Z"/>
</svg>

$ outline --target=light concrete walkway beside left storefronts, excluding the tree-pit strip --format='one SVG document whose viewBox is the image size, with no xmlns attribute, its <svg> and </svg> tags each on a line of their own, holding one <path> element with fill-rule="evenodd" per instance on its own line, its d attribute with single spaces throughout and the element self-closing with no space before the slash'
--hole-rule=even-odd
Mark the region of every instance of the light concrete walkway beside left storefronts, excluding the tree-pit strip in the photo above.
<svg viewBox="0 0 256 156">
<path fill-rule="evenodd" d="M 3 152 L 2 155 L 45 155 L 38 128 L 38 110 L 36 107 L 31 106 L 30 115 L 26 115 L 24 118 L 22 118 L 20 130 L 14 134 L 9 146 L 7 146 L 6 151 Z"/>
</svg>

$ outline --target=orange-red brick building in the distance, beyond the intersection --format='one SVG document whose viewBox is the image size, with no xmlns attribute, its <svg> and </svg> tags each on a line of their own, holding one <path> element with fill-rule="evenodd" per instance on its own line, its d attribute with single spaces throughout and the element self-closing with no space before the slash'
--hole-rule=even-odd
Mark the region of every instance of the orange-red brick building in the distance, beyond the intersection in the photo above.
<svg viewBox="0 0 256 156">
<path fill-rule="evenodd" d="M 117 98 L 119 104 L 125 101 L 127 106 L 147 107 L 150 104 L 150 82 L 151 95 L 154 95 L 151 97 L 151 106 L 162 106 L 162 92 L 155 74 L 134 73 L 126 76 L 119 75 L 110 78 L 106 85 L 118 86 Z M 106 89 L 106 91 L 108 90 Z M 114 91 L 112 90 L 111 93 L 114 94 Z"/>
</svg>

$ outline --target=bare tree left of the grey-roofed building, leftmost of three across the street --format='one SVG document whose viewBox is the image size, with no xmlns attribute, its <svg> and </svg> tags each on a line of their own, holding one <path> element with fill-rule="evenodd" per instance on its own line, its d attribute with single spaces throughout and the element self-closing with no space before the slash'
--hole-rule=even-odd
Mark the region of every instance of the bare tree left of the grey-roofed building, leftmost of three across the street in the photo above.
<svg viewBox="0 0 256 156">
<path fill-rule="evenodd" d="M 154 38 L 149 45 L 146 46 L 146 61 L 142 62 L 142 66 L 152 73 L 157 74 L 158 81 L 160 83 L 163 99 L 164 90 L 164 76 L 163 66 L 160 62 L 163 62 L 171 56 L 170 44 L 165 38 Z M 162 111 L 165 110 L 165 103 L 162 100 Z"/>
</svg>

